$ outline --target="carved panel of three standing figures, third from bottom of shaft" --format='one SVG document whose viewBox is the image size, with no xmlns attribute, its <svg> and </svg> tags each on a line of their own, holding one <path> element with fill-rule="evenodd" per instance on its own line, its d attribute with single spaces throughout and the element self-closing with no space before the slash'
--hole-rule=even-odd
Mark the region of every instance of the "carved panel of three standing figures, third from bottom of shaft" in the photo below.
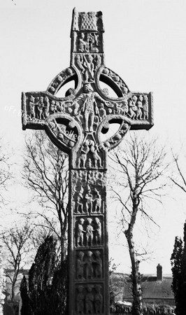
<svg viewBox="0 0 186 315">
<path fill-rule="evenodd" d="M 100 246 L 103 239 L 103 223 L 101 217 L 76 219 L 76 246 Z"/>
</svg>

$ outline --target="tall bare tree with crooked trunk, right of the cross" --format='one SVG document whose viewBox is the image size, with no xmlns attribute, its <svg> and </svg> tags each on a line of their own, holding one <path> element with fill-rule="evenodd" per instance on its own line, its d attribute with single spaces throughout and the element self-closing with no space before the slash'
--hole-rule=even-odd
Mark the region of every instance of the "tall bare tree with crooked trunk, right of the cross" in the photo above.
<svg viewBox="0 0 186 315">
<path fill-rule="evenodd" d="M 165 150 L 158 148 L 157 140 L 149 141 L 145 137 L 136 137 L 135 133 L 123 141 L 122 148 L 110 155 L 115 163 L 116 181 L 115 186 L 112 184 L 111 187 L 115 201 L 122 206 L 122 232 L 127 239 L 131 260 L 134 315 L 143 314 L 140 261 L 135 247 L 134 228 L 136 218 L 140 214 L 155 223 L 147 212 L 147 201 L 161 201 L 160 190 L 166 185 L 161 181 L 167 167 L 164 165 L 165 156 Z"/>
</svg>

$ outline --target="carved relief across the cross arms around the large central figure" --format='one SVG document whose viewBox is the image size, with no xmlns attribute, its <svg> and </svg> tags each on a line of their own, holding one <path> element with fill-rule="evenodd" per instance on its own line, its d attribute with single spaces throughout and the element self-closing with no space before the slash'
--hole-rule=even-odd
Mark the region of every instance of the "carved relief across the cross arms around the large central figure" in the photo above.
<svg viewBox="0 0 186 315">
<path fill-rule="evenodd" d="M 26 117 L 27 122 L 33 122 L 35 125 L 37 123 L 44 125 L 46 120 L 54 114 L 66 114 L 66 119 L 68 119 L 68 116 L 73 116 L 78 125 L 83 128 L 83 132 L 86 135 L 85 140 L 90 141 L 90 143 L 87 144 L 84 140 L 84 148 L 81 148 L 83 156 L 77 161 L 77 167 L 81 164 L 81 167 L 84 168 L 89 164 L 90 168 L 101 168 L 103 167 L 103 165 L 101 165 L 103 157 L 96 148 L 97 141 L 94 137 L 94 133 L 99 129 L 99 125 L 101 125 L 102 122 L 106 123 L 107 118 L 112 115 L 124 116 L 136 123 L 143 123 L 144 120 L 148 120 L 150 117 L 150 94 L 133 94 L 129 99 L 107 101 L 94 91 L 94 85 L 90 83 L 85 83 L 82 89 L 83 93 L 76 97 L 75 90 L 71 88 L 69 89 L 69 99 L 64 97 L 60 100 L 52 99 L 49 94 L 45 95 L 42 92 L 38 94 L 28 93 L 26 94 L 25 102 L 27 116 L 24 117 Z M 104 94 L 108 93 L 106 92 L 106 88 L 103 92 Z M 92 134 L 92 137 L 90 137 L 90 134 Z M 78 134 L 76 134 L 76 137 L 78 137 Z M 89 157 L 89 162 L 88 159 L 85 161 L 87 153 L 88 155 L 92 155 Z M 81 153 L 79 156 L 80 155 Z"/>
</svg>

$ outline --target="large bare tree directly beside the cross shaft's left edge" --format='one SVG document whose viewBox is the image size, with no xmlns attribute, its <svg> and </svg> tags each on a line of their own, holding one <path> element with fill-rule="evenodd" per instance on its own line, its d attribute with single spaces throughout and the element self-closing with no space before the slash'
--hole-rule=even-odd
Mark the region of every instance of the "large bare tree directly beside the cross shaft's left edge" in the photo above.
<svg viewBox="0 0 186 315">
<path fill-rule="evenodd" d="M 68 157 L 43 132 L 36 132 L 33 137 L 27 138 L 26 148 L 23 178 L 43 208 L 42 213 L 32 211 L 32 214 L 41 216 L 45 228 L 57 235 L 64 260 L 68 228 Z"/>
</svg>

